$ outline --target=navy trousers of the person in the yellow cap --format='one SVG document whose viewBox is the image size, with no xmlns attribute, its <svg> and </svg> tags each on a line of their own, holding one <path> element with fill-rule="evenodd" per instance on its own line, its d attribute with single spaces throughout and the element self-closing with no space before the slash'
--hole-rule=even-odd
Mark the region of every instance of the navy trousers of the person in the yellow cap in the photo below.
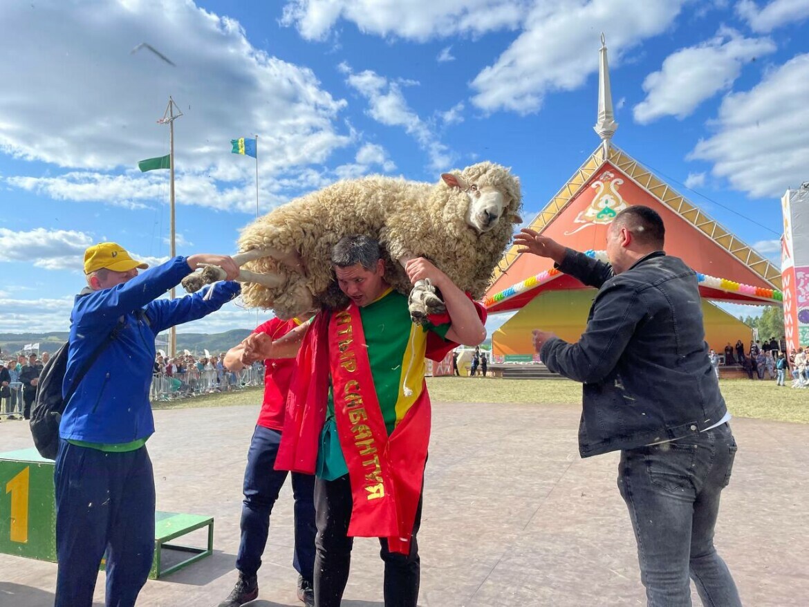
<svg viewBox="0 0 809 607">
<path fill-rule="evenodd" d="M 59 443 L 56 607 L 91 607 L 107 553 L 107 607 L 135 605 L 155 552 L 155 478 L 146 447 L 108 453 Z"/>
</svg>

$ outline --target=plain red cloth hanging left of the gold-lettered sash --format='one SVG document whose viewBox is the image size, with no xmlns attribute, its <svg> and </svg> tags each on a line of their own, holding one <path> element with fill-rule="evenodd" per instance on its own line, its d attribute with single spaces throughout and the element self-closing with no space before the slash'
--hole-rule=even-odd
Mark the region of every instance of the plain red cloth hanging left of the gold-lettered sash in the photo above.
<svg viewBox="0 0 809 607">
<path fill-rule="evenodd" d="M 303 336 L 290 392 L 275 469 L 314 474 L 328 399 L 328 319 L 321 312 Z"/>
</svg>

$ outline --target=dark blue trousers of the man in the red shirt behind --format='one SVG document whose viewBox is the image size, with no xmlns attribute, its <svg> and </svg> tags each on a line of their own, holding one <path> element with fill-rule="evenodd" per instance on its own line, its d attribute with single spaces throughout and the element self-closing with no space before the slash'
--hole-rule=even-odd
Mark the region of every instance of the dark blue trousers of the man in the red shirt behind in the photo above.
<svg viewBox="0 0 809 607">
<path fill-rule="evenodd" d="M 244 575 L 256 575 L 261 567 L 269 534 L 269 515 L 278 493 L 286 481 L 286 471 L 276 470 L 275 457 L 281 444 L 281 432 L 263 426 L 253 431 L 248 465 L 244 469 L 244 503 L 242 505 L 239 554 L 236 569 Z M 295 549 L 292 565 L 295 571 L 312 583 L 315 568 L 315 477 L 292 473 L 294 496 Z"/>
</svg>

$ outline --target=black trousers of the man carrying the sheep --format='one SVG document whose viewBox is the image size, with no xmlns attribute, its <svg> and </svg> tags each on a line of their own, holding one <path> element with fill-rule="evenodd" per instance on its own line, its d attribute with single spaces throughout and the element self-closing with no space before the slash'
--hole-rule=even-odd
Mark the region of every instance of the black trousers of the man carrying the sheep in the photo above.
<svg viewBox="0 0 809 607">
<path fill-rule="evenodd" d="M 421 525 L 421 499 L 418 499 L 410 554 L 388 550 L 388 540 L 380 537 L 379 556 L 385 562 L 385 607 L 416 607 L 421 565 L 416 535 Z M 351 483 L 348 474 L 334 481 L 315 480 L 317 537 L 315 540 L 315 605 L 340 607 L 349 579 L 351 548 L 348 537 L 351 518 Z"/>
</svg>

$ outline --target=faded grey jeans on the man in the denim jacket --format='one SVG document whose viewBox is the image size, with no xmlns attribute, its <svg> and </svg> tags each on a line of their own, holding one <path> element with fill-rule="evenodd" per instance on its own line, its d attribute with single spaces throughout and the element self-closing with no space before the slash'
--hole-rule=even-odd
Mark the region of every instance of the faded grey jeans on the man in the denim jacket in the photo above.
<svg viewBox="0 0 809 607">
<path fill-rule="evenodd" d="M 714 548 L 719 496 L 736 442 L 728 424 L 621 452 L 618 488 L 629 507 L 649 607 L 690 607 L 689 577 L 705 607 L 740 607 Z"/>
</svg>

